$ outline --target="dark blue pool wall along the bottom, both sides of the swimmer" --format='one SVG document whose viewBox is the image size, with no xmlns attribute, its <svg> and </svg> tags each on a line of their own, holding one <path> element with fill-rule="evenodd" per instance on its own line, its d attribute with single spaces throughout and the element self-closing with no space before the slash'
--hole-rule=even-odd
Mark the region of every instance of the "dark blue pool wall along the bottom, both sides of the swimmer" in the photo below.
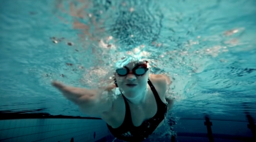
<svg viewBox="0 0 256 142">
<path fill-rule="evenodd" d="M 44 117 L 39 114 L 30 115 L 30 119 L 23 115 L 15 115 L 16 118 L 3 117 L 0 120 L 0 141 L 113 141 L 106 123 L 99 118 L 62 118 L 60 116 Z M 19 117 L 17 117 L 19 116 Z M 59 117 L 59 118 L 53 118 Z M 178 124 L 173 127 L 176 136 L 171 142 L 210 141 L 210 142 L 241 142 L 255 141 L 254 119 L 246 114 L 244 120 L 236 119 L 211 119 L 211 117 L 180 118 Z M 158 138 L 157 138 L 158 140 Z M 149 140 L 146 140 L 149 141 Z M 118 140 L 116 141 L 118 142 Z"/>
</svg>

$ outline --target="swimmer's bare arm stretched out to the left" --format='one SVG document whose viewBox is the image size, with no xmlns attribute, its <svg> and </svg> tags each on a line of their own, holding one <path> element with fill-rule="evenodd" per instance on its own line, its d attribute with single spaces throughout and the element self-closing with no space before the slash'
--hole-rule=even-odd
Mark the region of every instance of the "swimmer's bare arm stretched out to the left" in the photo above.
<svg viewBox="0 0 256 142">
<path fill-rule="evenodd" d="M 87 90 L 85 88 L 69 87 L 60 82 L 53 82 L 54 87 L 59 89 L 64 97 L 71 100 L 79 106 L 80 111 L 90 116 L 100 116 L 106 111 L 112 109 L 113 99 L 108 95 L 115 87 L 110 85 L 108 87 L 100 87 L 97 90 Z"/>
</svg>

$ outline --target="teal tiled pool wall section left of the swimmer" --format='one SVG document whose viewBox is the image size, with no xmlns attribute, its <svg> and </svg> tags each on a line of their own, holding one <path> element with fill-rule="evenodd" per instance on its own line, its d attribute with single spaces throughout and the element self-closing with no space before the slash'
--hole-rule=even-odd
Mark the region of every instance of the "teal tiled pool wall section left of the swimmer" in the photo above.
<svg viewBox="0 0 256 142">
<path fill-rule="evenodd" d="M 110 135 L 101 119 L 4 119 L 0 141 L 98 141 Z"/>
</svg>

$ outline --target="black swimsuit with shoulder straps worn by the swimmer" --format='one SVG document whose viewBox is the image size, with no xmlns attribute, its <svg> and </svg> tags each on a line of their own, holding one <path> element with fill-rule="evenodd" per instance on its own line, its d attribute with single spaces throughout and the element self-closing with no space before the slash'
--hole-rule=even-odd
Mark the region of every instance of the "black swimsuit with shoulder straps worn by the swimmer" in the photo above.
<svg viewBox="0 0 256 142">
<path fill-rule="evenodd" d="M 135 127 L 132 124 L 132 116 L 129 110 L 129 104 L 127 103 L 127 98 L 124 97 L 125 103 L 125 117 L 124 122 L 120 127 L 113 128 L 108 125 L 110 132 L 118 139 L 124 141 L 143 141 L 148 138 L 148 135 L 154 132 L 160 122 L 165 119 L 165 114 L 167 112 L 167 103 L 163 103 L 159 98 L 157 90 L 154 88 L 151 81 L 148 79 L 148 85 L 151 87 L 151 90 L 154 94 L 154 98 L 157 101 L 157 114 L 154 115 L 151 119 L 144 121 L 140 126 Z"/>
</svg>

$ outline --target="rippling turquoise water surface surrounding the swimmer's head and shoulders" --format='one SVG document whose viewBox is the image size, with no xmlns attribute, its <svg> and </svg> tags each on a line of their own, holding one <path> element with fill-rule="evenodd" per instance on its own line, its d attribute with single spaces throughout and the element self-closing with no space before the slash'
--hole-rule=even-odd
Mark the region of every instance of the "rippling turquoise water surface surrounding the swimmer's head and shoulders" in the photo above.
<svg viewBox="0 0 256 142">
<path fill-rule="evenodd" d="M 256 1 L 4 1 L 0 111 L 86 116 L 50 82 L 105 84 L 124 55 L 172 79 L 176 117 L 256 117 Z"/>
</svg>

